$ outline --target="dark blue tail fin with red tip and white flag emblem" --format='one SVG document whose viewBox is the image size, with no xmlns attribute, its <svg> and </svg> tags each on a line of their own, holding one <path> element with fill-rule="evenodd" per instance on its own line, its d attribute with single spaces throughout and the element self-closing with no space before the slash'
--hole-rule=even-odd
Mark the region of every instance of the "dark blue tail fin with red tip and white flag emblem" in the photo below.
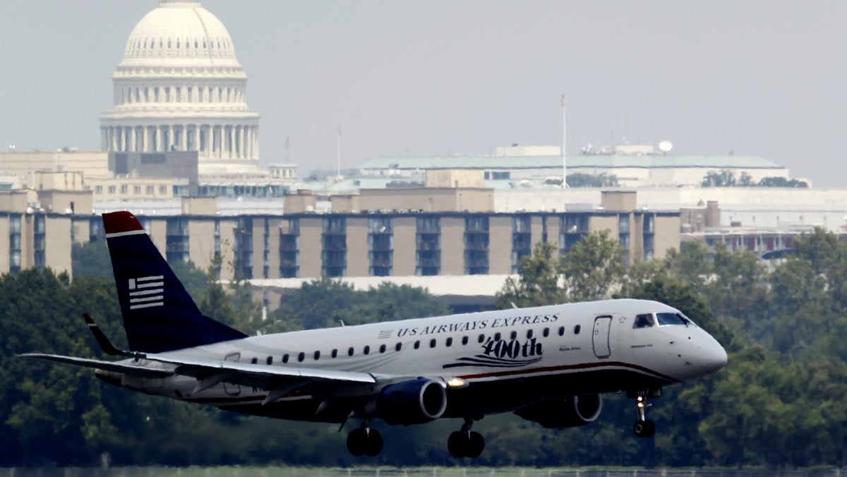
<svg viewBox="0 0 847 477">
<path fill-rule="evenodd" d="M 102 216 L 130 350 L 167 352 L 246 337 L 200 313 L 133 214 Z"/>
</svg>

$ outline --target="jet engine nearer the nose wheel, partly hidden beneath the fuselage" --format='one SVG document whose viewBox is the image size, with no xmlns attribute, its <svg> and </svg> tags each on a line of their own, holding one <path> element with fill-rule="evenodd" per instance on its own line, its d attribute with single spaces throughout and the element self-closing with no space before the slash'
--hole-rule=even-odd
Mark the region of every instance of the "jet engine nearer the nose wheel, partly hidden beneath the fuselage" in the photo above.
<svg viewBox="0 0 847 477">
<path fill-rule="evenodd" d="M 515 413 L 546 428 L 556 429 L 588 424 L 600 416 L 602 409 L 602 397 L 599 394 L 587 394 L 536 402 Z"/>
</svg>

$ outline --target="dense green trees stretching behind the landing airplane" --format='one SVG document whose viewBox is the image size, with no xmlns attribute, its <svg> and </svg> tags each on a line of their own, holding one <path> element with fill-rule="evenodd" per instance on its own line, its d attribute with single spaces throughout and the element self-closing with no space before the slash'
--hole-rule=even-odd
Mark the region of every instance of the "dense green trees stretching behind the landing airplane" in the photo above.
<svg viewBox="0 0 847 477">
<path fill-rule="evenodd" d="M 651 401 L 653 438 L 632 435 L 632 401 L 606 395 L 600 419 L 580 428 L 545 430 L 513 414 L 486 417 L 474 426 L 486 449 L 473 463 L 840 467 L 847 444 L 847 244 L 815 230 L 795 240 L 794 250 L 782 262 L 762 263 L 720 243 L 710 250 L 685 242 L 665 258 L 627 266 L 606 232 L 585 236 L 561 257 L 550 244 L 537 244 L 520 263 L 520 278 L 504 284 L 498 307 L 655 299 L 716 336 L 729 363 Z M 81 312 L 91 313 L 119 346 L 125 343 L 103 252 L 102 242 L 77 247 L 74 280 L 49 269 L 0 276 L 0 466 L 91 465 L 104 452 L 119 464 L 471 462 L 446 451 L 447 435 L 461 425 L 454 419 L 391 428 L 378 421 L 385 450 L 363 460 L 346 452 L 346 430 L 335 424 L 246 417 L 148 397 L 102 384 L 91 370 L 16 357 L 104 358 Z M 262 319 L 246 284 L 221 285 L 191 263 L 174 269 L 203 313 L 250 334 L 449 313 L 424 289 L 355 291 L 324 279 L 304 284 Z"/>
</svg>

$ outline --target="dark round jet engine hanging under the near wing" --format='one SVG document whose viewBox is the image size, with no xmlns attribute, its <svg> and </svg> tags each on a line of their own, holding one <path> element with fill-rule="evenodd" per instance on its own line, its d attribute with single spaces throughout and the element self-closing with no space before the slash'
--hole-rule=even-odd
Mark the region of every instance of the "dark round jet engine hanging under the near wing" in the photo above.
<svg viewBox="0 0 847 477">
<path fill-rule="evenodd" d="M 388 424 L 423 424 L 438 419 L 447 408 L 443 385 L 426 378 L 386 385 L 368 406 L 368 413 Z"/>
</svg>

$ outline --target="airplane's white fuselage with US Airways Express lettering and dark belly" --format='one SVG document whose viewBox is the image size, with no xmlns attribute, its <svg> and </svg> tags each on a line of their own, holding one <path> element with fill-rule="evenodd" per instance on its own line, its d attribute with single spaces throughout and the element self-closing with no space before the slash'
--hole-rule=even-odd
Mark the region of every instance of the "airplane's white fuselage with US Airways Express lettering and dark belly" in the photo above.
<svg viewBox="0 0 847 477">
<path fill-rule="evenodd" d="M 465 384 L 451 390 L 448 402 L 468 402 L 462 399 L 465 393 L 484 397 L 482 413 L 503 412 L 546 397 L 675 384 L 710 374 L 726 363 L 726 352 L 705 330 L 687 319 L 684 324 L 659 324 L 657 313 L 681 316 L 659 302 L 607 300 L 252 336 L 160 356 L 355 371 L 374 377 L 426 377 L 445 383 L 461 378 Z M 636 327 L 635 318 L 645 314 L 653 316 L 654 323 Z M 497 402 L 497 391 L 516 382 L 525 385 L 523 397 Z M 338 397 L 331 389 L 318 397 L 293 388 L 274 398 L 271 411 L 259 405 L 268 391 L 244 385 L 219 384 L 192 392 L 197 380 L 187 376 L 122 385 L 285 419 L 302 413 L 302 401 Z M 363 385 L 360 391 L 368 395 L 374 387 Z M 289 413 L 286 402 L 301 403 Z M 474 399 L 473 407 L 479 406 Z M 448 415 L 465 412 L 459 404 L 448 405 Z"/>
</svg>

